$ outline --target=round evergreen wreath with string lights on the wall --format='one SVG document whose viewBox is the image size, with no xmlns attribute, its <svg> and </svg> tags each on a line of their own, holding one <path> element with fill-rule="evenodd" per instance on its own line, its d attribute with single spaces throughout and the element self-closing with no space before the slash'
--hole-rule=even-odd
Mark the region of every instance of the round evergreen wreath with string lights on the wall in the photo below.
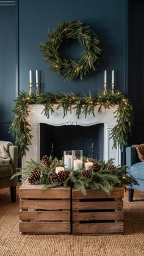
<svg viewBox="0 0 144 256">
<path fill-rule="evenodd" d="M 80 20 L 62 22 L 58 26 L 56 30 L 48 29 L 48 42 L 39 43 L 45 62 L 50 64 L 49 70 L 68 81 L 77 77 L 82 79 L 97 70 L 102 49 L 99 38 L 90 26 Z M 61 57 L 62 45 L 70 39 L 77 39 L 84 46 L 79 60 L 67 60 Z"/>
</svg>

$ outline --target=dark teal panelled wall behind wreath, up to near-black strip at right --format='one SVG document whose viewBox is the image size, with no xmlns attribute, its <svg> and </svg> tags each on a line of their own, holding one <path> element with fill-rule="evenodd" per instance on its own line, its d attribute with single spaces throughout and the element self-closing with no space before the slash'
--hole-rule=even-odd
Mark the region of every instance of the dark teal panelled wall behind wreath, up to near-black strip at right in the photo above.
<svg viewBox="0 0 144 256">
<path fill-rule="evenodd" d="M 72 91 L 82 95 L 91 90 L 96 93 L 103 89 L 105 69 L 108 88 L 111 87 L 111 72 L 114 69 L 117 89 L 126 92 L 128 0 L 19 0 L 16 5 L 6 4 L 5 7 L 1 2 L 7 1 L 0 1 L 0 33 L 5 33 L 0 42 L 1 56 L 4 58 L 4 62 L 0 58 L 1 140 L 11 139 L 8 128 L 12 122 L 12 100 L 19 90 L 29 92 L 30 69 L 40 71 L 40 92 Z M 76 79 L 67 82 L 48 70 L 48 64 L 43 61 L 37 45 L 46 40 L 48 28 L 57 29 L 57 23 L 60 21 L 74 19 L 80 19 L 95 29 L 101 38 L 104 59 L 92 76 L 82 81 Z M 18 26 L 19 37 L 16 46 Z M 75 57 L 76 53 L 71 49 L 72 57 Z"/>
</svg>

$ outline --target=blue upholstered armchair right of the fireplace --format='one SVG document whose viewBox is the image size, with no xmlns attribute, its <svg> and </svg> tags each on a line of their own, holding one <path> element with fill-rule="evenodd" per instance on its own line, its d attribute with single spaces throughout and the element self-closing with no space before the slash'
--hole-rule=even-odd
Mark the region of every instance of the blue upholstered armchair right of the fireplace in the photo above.
<svg viewBox="0 0 144 256">
<path fill-rule="evenodd" d="M 126 148 L 126 166 L 128 175 L 134 177 L 139 183 L 129 187 L 129 202 L 132 202 L 134 189 L 144 191 L 144 162 L 138 158 L 135 147 Z"/>
</svg>

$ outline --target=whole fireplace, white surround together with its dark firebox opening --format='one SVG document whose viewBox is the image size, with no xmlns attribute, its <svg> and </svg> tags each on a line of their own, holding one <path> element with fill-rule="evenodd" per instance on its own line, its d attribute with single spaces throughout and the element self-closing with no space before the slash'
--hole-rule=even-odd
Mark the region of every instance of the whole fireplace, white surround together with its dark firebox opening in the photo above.
<svg viewBox="0 0 144 256">
<path fill-rule="evenodd" d="M 27 117 L 27 121 L 31 125 L 31 134 L 33 137 L 31 140 L 32 145 L 29 145 L 29 151 L 26 152 L 26 156 L 23 156 L 23 159 L 22 159 L 23 167 L 26 166 L 27 161 L 30 161 L 31 159 L 34 159 L 34 160 L 39 159 L 43 154 L 45 154 L 45 152 L 47 153 L 48 150 L 51 153 L 51 147 L 53 147 L 53 150 L 55 150 L 56 156 L 61 157 L 63 150 L 68 150 L 68 149 L 73 150 L 73 149 L 76 149 L 77 147 L 80 147 L 82 144 L 82 138 L 83 138 L 83 146 L 84 146 L 84 141 L 86 140 L 86 137 L 87 137 L 87 143 L 89 143 L 87 144 L 86 147 L 90 149 L 88 151 L 89 157 L 93 156 L 94 158 L 102 158 L 105 161 L 107 161 L 110 158 L 114 158 L 115 165 L 118 166 L 121 164 L 120 147 L 113 148 L 112 147 L 113 139 L 110 138 L 110 132 L 113 126 L 116 125 L 116 119 L 114 117 L 115 114 L 113 114 L 113 112 L 117 110 L 117 106 L 110 107 L 110 109 L 103 108 L 101 113 L 98 112 L 98 107 L 96 107 L 95 117 L 93 117 L 93 115 L 91 114 L 91 115 L 87 115 L 87 117 L 85 118 L 84 114 L 81 114 L 79 119 L 77 119 L 77 116 L 76 116 L 76 109 L 73 109 L 71 113 L 68 112 L 67 116 L 63 118 L 63 108 L 57 109 L 57 105 L 54 105 L 54 113 L 50 114 L 49 119 L 44 114 L 41 114 L 43 109 L 44 109 L 44 106 L 41 104 L 29 105 L 29 108 L 28 108 L 29 115 Z M 41 145 L 40 145 L 40 139 L 41 139 L 40 126 L 43 126 L 40 124 L 42 123 L 49 126 L 48 132 L 47 132 L 48 137 L 45 140 L 49 148 L 49 149 L 46 149 L 47 151 L 45 149 L 41 150 Z M 54 133 L 60 133 L 60 131 L 62 130 L 63 130 L 63 134 L 65 134 L 66 132 L 67 134 L 68 133 L 71 134 L 72 130 L 73 130 L 73 134 L 77 133 L 75 136 L 75 141 L 77 137 L 79 144 L 76 145 L 75 143 L 73 145 L 72 143 L 73 136 L 72 136 L 72 139 L 71 138 L 69 139 L 69 142 L 71 141 L 69 144 L 69 147 L 74 147 L 74 148 L 66 148 L 68 147 L 68 145 L 66 144 L 66 142 L 64 142 L 63 143 L 64 147 L 62 148 L 62 151 L 59 153 L 60 154 L 59 155 L 56 151 L 56 142 L 54 142 L 53 135 Z M 100 141 L 98 143 L 101 143 L 101 145 L 99 144 L 100 145 L 99 148 L 102 148 L 102 149 L 100 150 L 101 152 L 96 153 L 96 141 L 93 141 L 93 137 L 96 137 L 96 135 L 88 137 L 86 136 L 86 134 L 90 134 L 90 133 L 95 134 L 96 131 L 98 130 L 101 130 L 99 134 L 103 133 L 103 136 L 100 136 L 100 137 L 99 135 L 97 136 L 97 139 Z M 78 137 L 78 133 L 81 133 L 80 134 L 81 136 Z M 89 142 L 88 142 L 88 139 L 89 139 Z M 56 137 L 55 137 L 55 140 L 56 140 Z M 53 143 L 53 146 L 52 146 L 52 143 Z M 77 149 L 83 149 L 83 148 L 77 148 Z M 85 151 L 85 153 L 87 154 L 87 151 Z"/>
</svg>

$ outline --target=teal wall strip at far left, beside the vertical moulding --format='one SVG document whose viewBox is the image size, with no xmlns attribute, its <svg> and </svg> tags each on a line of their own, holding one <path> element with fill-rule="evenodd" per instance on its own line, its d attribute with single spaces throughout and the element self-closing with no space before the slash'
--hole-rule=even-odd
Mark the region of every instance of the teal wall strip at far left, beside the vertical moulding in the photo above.
<svg viewBox="0 0 144 256">
<path fill-rule="evenodd" d="M 0 1 L 0 140 L 11 140 L 8 133 L 15 99 L 16 64 L 15 3 Z"/>
</svg>

